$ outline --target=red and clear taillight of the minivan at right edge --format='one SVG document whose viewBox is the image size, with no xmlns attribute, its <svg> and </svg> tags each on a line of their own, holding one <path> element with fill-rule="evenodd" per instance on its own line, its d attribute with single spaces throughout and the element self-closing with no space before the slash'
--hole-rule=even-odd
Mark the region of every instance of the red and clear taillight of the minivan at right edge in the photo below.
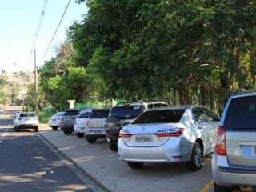
<svg viewBox="0 0 256 192">
<path fill-rule="evenodd" d="M 226 129 L 222 126 L 218 126 L 215 151 L 218 155 L 226 156 Z"/>
</svg>

